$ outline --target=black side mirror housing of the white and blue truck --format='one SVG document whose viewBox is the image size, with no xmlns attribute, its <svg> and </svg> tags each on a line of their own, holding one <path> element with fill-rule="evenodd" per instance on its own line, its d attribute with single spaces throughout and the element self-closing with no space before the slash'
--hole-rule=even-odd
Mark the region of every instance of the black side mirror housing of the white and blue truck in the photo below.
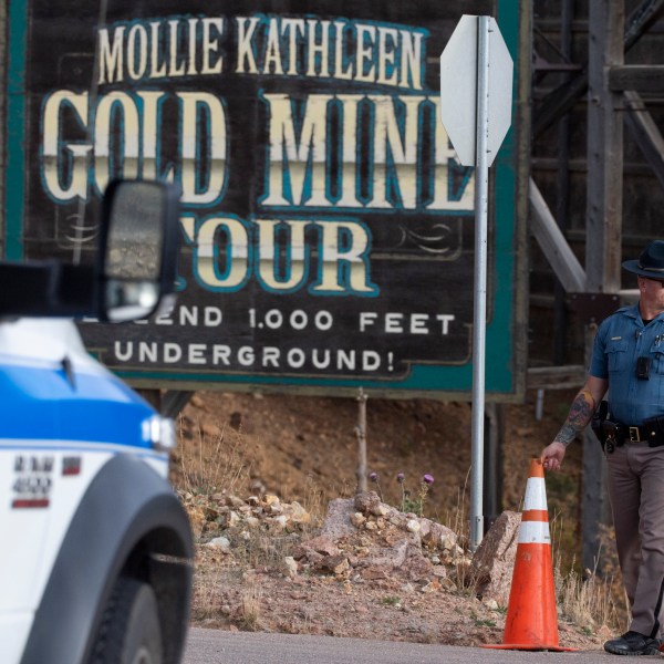
<svg viewBox="0 0 664 664">
<path fill-rule="evenodd" d="M 104 322 L 147 318 L 175 291 L 179 189 L 114 180 L 102 207 L 100 311 Z"/>
</svg>

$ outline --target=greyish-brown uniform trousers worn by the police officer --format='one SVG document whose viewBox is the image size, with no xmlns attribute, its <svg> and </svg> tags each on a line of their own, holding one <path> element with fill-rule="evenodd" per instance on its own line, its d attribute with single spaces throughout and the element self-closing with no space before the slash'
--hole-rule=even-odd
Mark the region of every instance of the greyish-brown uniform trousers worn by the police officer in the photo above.
<svg viewBox="0 0 664 664">
<path fill-rule="evenodd" d="M 630 443 L 606 454 L 609 497 L 630 630 L 664 636 L 664 446 Z"/>
</svg>

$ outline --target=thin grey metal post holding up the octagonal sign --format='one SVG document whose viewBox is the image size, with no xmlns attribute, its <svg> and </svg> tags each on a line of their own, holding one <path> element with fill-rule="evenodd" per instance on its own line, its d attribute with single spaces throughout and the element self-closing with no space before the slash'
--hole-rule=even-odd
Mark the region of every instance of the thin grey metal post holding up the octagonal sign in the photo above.
<svg viewBox="0 0 664 664">
<path fill-rule="evenodd" d="M 489 17 L 477 17 L 477 137 L 475 172 L 475 304 L 473 317 L 473 450 L 470 476 L 470 550 L 484 536 L 484 417 L 487 323 L 487 219 L 489 135 Z"/>
</svg>

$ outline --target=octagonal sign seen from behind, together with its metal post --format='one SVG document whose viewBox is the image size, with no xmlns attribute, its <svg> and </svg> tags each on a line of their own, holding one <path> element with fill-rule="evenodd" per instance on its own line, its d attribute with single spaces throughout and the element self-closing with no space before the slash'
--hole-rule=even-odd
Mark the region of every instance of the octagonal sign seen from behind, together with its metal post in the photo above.
<svg viewBox="0 0 664 664">
<path fill-rule="evenodd" d="M 489 167 L 511 124 L 513 62 L 491 17 L 464 14 L 440 53 L 440 120 L 464 166 L 475 166 L 470 549 L 484 536 L 485 355 Z M 454 91 L 454 94 L 452 93 Z M 490 103 L 489 103 L 490 102 Z M 475 126 L 468 122 L 475 117 Z"/>
</svg>

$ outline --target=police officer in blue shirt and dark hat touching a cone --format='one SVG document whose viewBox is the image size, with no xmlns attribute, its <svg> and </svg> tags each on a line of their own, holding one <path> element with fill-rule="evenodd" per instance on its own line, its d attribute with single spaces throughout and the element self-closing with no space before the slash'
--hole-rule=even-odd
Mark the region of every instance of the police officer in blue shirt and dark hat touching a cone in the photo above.
<svg viewBox="0 0 664 664">
<path fill-rule="evenodd" d="M 632 622 L 604 650 L 655 655 L 664 635 L 664 241 L 623 268 L 637 274 L 640 300 L 600 324 L 588 380 L 540 458 L 546 469 L 560 470 L 567 446 L 608 395 L 601 438 Z"/>
</svg>

